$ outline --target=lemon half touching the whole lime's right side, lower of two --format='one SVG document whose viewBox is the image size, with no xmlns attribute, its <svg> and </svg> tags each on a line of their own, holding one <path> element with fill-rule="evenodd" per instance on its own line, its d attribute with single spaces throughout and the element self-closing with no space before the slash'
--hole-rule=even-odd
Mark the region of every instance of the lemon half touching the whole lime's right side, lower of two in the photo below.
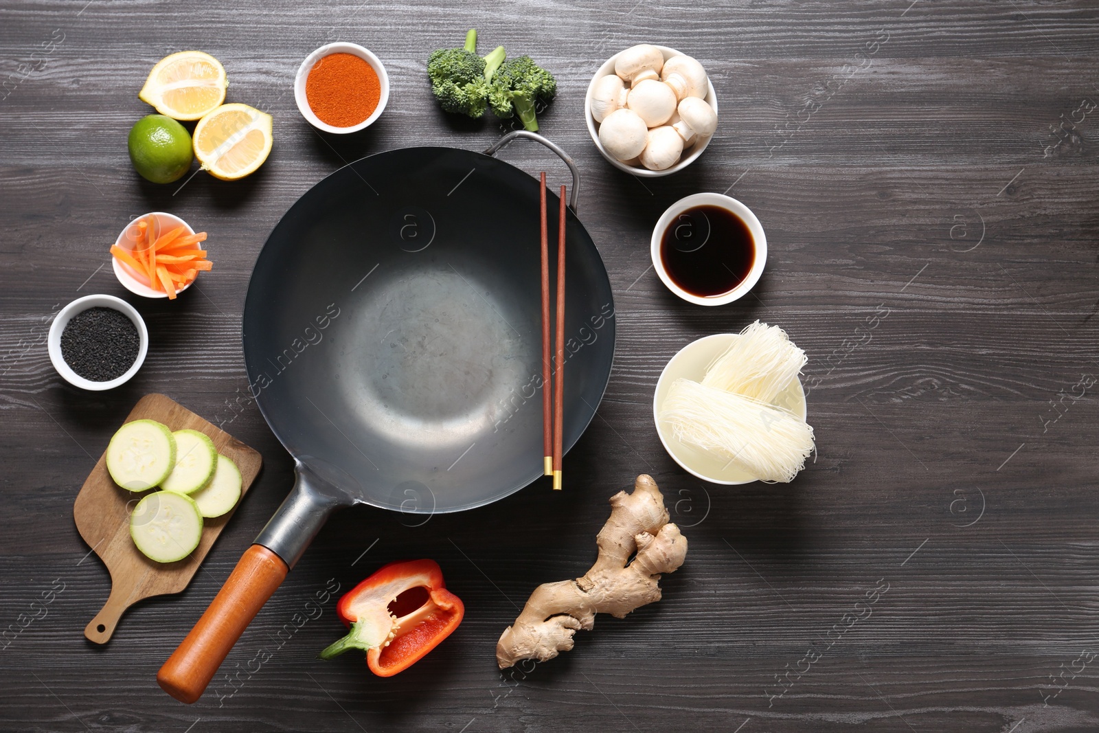
<svg viewBox="0 0 1099 733">
<path fill-rule="evenodd" d="M 247 104 L 222 104 L 195 126 L 195 157 L 214 178 L 236 180 L 271 152 L 271 115 Z"/>
</svg>

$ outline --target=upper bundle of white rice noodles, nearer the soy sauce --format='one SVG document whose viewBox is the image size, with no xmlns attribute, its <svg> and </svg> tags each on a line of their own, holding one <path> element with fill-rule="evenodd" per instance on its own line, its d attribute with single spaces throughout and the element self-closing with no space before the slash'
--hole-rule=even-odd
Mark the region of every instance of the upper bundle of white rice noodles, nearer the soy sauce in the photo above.
<svg viewBox="0 0 1099 733">
<path fill-rule="evenodd" d="M 750 324 L 732 346 L 714 359 L 702 384 L 773 402 L 809 359 L 777 325 Z"/>
</svg>

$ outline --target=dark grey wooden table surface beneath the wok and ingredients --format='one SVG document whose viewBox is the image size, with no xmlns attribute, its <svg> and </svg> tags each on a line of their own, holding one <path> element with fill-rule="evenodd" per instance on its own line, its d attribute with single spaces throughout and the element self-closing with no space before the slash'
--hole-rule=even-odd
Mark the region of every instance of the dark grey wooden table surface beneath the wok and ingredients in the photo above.
<svg viewBox="0 0 1099 733">
<path fill-rule="evenodd" d="M 258 484 L 191 586 L 134 608 L 102 647 L 82 629 L 110 580 L 73 524 L 76 492 L 141 395 L 230 414 L 249 270 L 310 186 L 379 151 L 502 134 L 447 119 L 424 81 L 428 53 L 470 26 L 556 74 L 543 131 L 576 157 L 579 214 L 614 288 L 614 370 L 569 486 L 422 526 L 343 512 L 230 655 L 234 686 L 222 674 L 217 693 L 178 703 L 156 670 L 281 501 L 290 459 L 254 407 L 227 423 L 263 453 Z M 335 40 L 375 51 L 392 78 L 385 115 L 346 140 L 314 133 L 291 90 L 301 58 Z M 595 69 L 640 41 L 697 56 L 721 103 L 704 156 L 658 180 L 608 165 L 582 122 Z M 275 115 L 276 142 L 251 178 L 202 174 L 175 192 L 138 179 L 125 137 L 149 111 L 136 98 L 149 67 L 191 47 L 224 63 L 230 101 Z M 8 0 L 0 85 L 0 629 L 21 629 L 0 645 L 0 729 L 1099 729 L 1096 3 Z M 563 182 L 533 147 L 504 157 Z M 696 191 L 763 221 L 754 297 L 691 307 L 650 268 L 657 216 Z M 107 259 L 153 210 L 210 233 L 217 269 L 176 303 L 129 297 Z M 152 334 L 141 374 L 107 393 L 65 385 L 44 343 L 53 312 L 92 292 L 127 297 Z M 682 345 L 757 318 L 809 354 L 819 454 L 789 485 L 702 485 L 662 449 L 653 388 Z M 690 541 L 665 599 L 501 675 L 493 645 L 517 607 L 587 569 L 607 498 L 639 473 Z M 296 626 L 306 602 L 408 556 L 442 564 L 466 602 L 458 633 L 390 679 L 353 655 L 317 660 L 342 632 L 332 602 Z"/>
</svg>

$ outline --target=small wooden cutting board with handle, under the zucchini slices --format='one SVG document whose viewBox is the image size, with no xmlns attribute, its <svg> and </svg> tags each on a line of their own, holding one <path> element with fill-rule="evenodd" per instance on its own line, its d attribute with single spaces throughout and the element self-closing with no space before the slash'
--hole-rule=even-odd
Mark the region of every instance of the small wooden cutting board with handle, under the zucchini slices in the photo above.
<svg viewBox="0 0 1099 733">
<path fill-rule="evenodd" d="M 241 499 L 244 499 L 263 464 L 259 453 L 164 395 L 141 398 L 125 422 L 146 418 L 162 422 L 174 431 L 190 427 L 206 433 L 218 452 L 232 458 L 241 469 Z M 137 601 L 149 596 L 178 593 L 186 588 L 236 511 L 234 507 L 222 517 L 203 520 L 199 546 L 186 558 L 175 563 L 151 560 L 137 551 L 130 538 L 130 511 L 148 492 L 135 493 L 119 487 L 107 471 L 106 455 L 104 449 L 73 507 L 80 536 L 111 571 L 111 595 L 84 630 L 84 635 L 97 644 L 106 644 L 111 638 L 119 619 Z"/>
</svg>

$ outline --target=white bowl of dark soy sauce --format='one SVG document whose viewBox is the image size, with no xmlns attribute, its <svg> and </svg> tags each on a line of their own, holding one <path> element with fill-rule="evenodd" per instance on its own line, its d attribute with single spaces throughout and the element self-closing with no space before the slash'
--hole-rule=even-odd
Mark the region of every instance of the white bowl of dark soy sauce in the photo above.
<svg viewBox="0 0 1099 733">
<path fill-rule="evenodd" d="M 695 193 L 656 222 L 652 256 L 671 292 L 697 306 L 724 306 L 758 282 L 767 236 L 752 210 L 736 199 Z"/>
</svg>

